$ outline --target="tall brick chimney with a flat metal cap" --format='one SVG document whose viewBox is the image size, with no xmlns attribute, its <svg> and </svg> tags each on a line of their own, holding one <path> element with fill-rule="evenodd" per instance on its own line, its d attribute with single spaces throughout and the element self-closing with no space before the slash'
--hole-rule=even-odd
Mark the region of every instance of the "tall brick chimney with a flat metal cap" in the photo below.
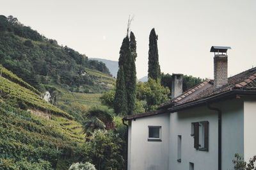
<svg viewBox="0 0 256 170">
<path fill-rule="evenodd" d="M 214 91 L 228 84 L 228 49 L 231 48 L 219 46 L 211 47 L 211 52 L 214 52 Z"/>
</svg>

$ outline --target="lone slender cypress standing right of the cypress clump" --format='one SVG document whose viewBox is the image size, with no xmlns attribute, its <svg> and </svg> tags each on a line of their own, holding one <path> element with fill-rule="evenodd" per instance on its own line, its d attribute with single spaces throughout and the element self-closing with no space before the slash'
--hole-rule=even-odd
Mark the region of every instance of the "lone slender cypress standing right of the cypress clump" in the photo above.
<svg viewBox="0 0 256 170">
<path fill-rule="evenodd" d="M 148 50 L 148 77 L 157 81 L 161 79 L 161 71 L 158 61 L 157 35 L 153 28 L 149 35 L 149 50 Z"/>
</svg>

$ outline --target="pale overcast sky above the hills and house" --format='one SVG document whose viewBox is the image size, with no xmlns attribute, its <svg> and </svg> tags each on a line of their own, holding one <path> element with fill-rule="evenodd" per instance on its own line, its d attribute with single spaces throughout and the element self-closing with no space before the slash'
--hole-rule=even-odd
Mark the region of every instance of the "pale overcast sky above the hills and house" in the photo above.
<svg viewBox="0 0 256 170">
<path fill-rule="evenodd" d="M 5 0 L 0 15 L 13 15 L 88 58 L 113 61 L 118 61 L 131 15 L 138 79 L 147 75 L 153 27 L 161 72 L 212 79 L 212 45 L 232 48 L 228 50 L 228 76 L 256 66 L 255 9 L 255 0 Z"/>
</svg>

